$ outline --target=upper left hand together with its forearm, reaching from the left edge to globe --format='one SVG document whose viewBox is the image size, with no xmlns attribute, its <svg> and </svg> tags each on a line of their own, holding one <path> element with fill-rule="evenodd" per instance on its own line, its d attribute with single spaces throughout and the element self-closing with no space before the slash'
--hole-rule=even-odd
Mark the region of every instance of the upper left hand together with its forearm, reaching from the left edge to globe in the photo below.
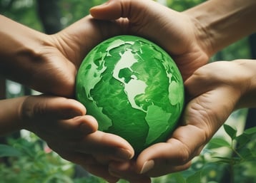
<svg viewBox="0 0 256 183">
<path fill-rule="evenodd" d="M 84 56 L 97 43 L 120 32 L 115 23 L 91 16 L 53 35 L 1 15 L 0 22 L 5 25 L 0 28 L 1 75 L 42 93 L 66 97 L 74 96 L 75 77 Z"/>
</svg>

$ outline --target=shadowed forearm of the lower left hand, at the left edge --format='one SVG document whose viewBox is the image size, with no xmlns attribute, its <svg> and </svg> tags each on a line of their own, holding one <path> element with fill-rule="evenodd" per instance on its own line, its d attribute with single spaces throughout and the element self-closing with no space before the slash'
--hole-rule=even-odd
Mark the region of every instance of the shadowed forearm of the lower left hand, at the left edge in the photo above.
<svg viewBox="0 0 256 183">
<path fill-rule="evenodd" d="M 19 115 L 24 98 L 0 100 L 0 136 L 24 128 Z"/>
</svg>

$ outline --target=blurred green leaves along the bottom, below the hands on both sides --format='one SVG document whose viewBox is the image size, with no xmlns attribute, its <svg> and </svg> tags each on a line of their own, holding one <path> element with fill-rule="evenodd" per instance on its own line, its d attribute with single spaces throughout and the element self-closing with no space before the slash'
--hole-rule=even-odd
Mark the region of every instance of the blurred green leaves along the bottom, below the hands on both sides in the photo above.
<svg viewBox="0 0 256 183">
<path fill-rule="evenodd" d="M 224 125 L 224 130 L 228 138 L 213 138 L 192 167 L 154 178 L 152 183 L 220 183 L 227 172 L 230 181 L 225 183 L 256 182 L 256 127 L 239 135 L 230 125 Z M 229 155 L 223 156 L 220 148 L 227 149 Z M 107 183 L 90 174 L 75 177 L 74 164 L 49 151 L 33 134 L 28 139 L 9 139 L 9 145 L 0 145 L 0 157 L 9 157 L 9 165 L 0 164 L 0 183 Z"/>
</svg>

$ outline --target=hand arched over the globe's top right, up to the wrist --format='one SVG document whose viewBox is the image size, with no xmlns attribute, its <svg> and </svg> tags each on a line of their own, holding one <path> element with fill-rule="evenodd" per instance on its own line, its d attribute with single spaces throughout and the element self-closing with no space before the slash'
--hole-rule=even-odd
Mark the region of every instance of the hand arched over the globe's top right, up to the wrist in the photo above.
<svg viewBox="0 0 256 183">
<path fill-rule="evenodd" d="M 152 0 L 109 0 L 90 10 L 95 19 L 118 23 L 123 33 L 148 38 L 174 58 L 186 80 L 210 57 L 210 43 L 200 23 Z"/>
</svg>

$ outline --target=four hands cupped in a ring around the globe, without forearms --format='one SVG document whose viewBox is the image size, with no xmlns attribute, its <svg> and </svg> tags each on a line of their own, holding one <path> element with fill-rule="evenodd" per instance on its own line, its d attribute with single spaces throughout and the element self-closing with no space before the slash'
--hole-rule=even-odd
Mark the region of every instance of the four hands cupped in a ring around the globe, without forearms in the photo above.
<svg viewBox="0 0 256 183">
<path fill-rule="evenodd" d="M 97 131 L 97 121 L 72 99 L 47 95 L 25 98 L 21 114 L 28 123 L 24 126 L 61 157 L 109 182 L 119 178 L 150 182 L 149 177 L 187 169 L 230 113 L 240 107 L 237 104 L 250 78 L 247 67 L 241 65 L 244 61 L 204 66 L 211 48 L 208 40 L 202 40 L 200 23 L 154 1 L 112 0 L 94 7 L 91 14 L 95 19 L 87 16 L 59 33 L 45 35 L 47 46 L 39 51 L 40 72 L 34 69 L 36 82 L 31 81 L 31 86 L 72 97 L 77 69 L 92 47 L 119 34 L 143 36 L 164 48 L 182 73 L 189 100 L 181 125 L 167 142 L 148 147 L 136 160 L 131 160 L 134 151 L 128 142 Z"/>
</svg>

